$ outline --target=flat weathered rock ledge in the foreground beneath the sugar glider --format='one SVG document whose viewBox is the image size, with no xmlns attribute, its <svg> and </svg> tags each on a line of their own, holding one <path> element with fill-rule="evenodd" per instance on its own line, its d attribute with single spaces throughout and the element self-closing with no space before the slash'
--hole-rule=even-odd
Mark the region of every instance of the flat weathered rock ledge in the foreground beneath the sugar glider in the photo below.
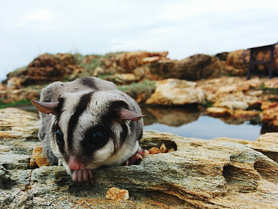
<svg viewBox="0 0 278 209">
<path fill-rule="evenodd" d="M 139 165 L 97 169 L 94 184 L 78 185 L 63 167 L 28 168 L 40 145 L 35 114 L 1 109 L 0 127 L 0 208 L 278 208 L 278 144 L 265 138 L 145 131 L 143 148 L 165 144 L 175 151 L 148 155 Z M 106 199 L 111 187 L 128 190 L 129 199 Z"/>
</svg>

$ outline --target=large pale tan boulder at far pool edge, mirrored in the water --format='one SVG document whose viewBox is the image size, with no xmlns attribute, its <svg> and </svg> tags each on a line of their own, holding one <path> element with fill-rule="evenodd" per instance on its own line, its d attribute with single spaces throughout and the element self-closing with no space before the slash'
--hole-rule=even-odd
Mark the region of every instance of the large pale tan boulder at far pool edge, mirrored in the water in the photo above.
<svg viewBox="0 0 278 209">
<path fill-rule="evenodd" d="M 147 104 L 184 105 L 203 103 L 205 92 L 196 88 L 195 82 L 187 82 L 179 79 L 166 79 L 157 82 L 156 90 Z"/>
</svg>

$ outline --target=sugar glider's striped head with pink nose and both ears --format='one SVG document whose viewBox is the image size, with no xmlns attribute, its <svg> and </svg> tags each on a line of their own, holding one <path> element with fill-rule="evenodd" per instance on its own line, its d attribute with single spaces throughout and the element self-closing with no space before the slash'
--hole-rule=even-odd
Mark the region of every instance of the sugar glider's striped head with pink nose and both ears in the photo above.
<svg viewBox="0 0 278 209">
<path fill-rule="evenodd" d="M 129 99 L 120 91 L 81 91 L 63 93 L 58 102 L 32 103 L 53 115 L 49 129 L 54 155 L 78 170 L 122 164 L 136 152 L 143 115 Z"/>
</svg>

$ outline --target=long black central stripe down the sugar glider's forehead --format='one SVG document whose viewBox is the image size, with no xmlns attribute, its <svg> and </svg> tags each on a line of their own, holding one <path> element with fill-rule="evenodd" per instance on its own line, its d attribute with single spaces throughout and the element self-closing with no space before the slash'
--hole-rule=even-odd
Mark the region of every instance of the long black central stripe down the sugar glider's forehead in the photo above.
<svg viewBox="0 0 278 209">
<path fill-rule="evenodd" d="M 67 125 L 67 143 L 70 149 L 72 148 L 72 140 L 73 140 L 72 136 L 73 136 L 74 129 L 77 125 L 77 122 L 79 121 L 79 117 L 81 116 L 83 111 L 87 109 L 91 98 L 92 98 L 92 92 L 81 96 L 78 104 L 75 107 L 74 114 L 72 114 L 72 117 L 70 118 L 70 121 Z"/>
</svg>

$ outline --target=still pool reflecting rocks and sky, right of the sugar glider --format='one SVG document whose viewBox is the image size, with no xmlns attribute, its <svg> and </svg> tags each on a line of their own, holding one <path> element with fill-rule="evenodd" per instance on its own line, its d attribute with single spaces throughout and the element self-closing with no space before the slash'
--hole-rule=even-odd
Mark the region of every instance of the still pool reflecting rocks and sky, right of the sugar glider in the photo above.
<svg viewBox="0 0 278 209">
<path fill-rule="evenodd" d="M 213 139 L 229 137 L 256 141 L 261 125 L 254 118 L 213 118 L 202 107 L 141 107 L 145 130 L 171 132 L 184 137 Z"/>
</svg>

